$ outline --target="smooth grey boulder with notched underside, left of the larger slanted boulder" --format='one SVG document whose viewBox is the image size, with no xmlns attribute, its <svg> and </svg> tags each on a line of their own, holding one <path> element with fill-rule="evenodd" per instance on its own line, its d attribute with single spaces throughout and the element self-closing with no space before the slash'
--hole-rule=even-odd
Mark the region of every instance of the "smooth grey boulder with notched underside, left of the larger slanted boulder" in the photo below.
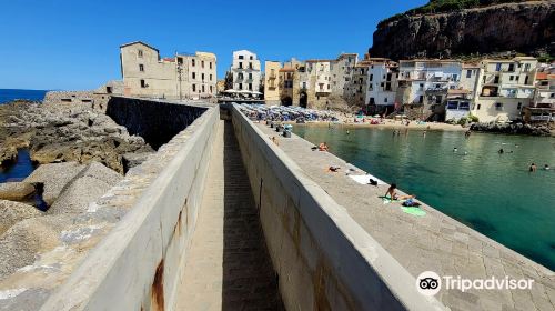
<svg viewBox="0 0 555 311">
<path fill-rule="evenodd" d="M 84 168 L 85 165 L 78 162 L 42 164 L 23 181 L 28 183 L 42 183 L 44 185 L 42 200 L 48 205 L 52 205 L 65 185 Z"/>
</svg>

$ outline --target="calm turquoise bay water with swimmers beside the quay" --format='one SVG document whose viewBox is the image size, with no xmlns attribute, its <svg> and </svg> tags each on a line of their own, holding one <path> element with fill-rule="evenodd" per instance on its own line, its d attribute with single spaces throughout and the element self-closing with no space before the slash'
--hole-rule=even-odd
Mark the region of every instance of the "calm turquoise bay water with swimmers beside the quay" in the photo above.
<svg viewBox="0 0 555 311">
<path fill-rule="evenodd" d="M 369 128 L 346 134 L 341 126 L 299 124 L 293 131 L 326 141 L 335 156 L 555 271 L 554 138 Z"/>
</svg>

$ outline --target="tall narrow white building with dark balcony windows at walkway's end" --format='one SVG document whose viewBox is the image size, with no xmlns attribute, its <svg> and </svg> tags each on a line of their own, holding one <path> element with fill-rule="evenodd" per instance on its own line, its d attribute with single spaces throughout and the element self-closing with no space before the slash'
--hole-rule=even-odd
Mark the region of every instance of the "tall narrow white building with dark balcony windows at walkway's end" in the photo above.
<svg viewBox="0 0 555 311">
<path fill-rule="evenodd" d="M 234 51 L 230 71 L 235 91 L 260 92 L 260 60 L 255 53 L 248 50 Z"/>
</svg>

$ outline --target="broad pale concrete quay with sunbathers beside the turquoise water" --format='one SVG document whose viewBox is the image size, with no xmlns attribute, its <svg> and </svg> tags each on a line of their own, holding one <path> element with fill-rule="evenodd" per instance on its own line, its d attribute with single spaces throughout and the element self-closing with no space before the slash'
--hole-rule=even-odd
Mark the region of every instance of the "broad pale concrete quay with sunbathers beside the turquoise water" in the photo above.
<svg viewBox="0 0 555 311">
<path fill-rule="evenodd" d="M 297 136 L 285 139 L 262 123 L 256 126 L 276 137 L 280 148 L 413 277 L 434 271 L 472 280 L 505 275 L 534 280 L 532 290 L 442 290 L 436 297 L 452 310 L 555 310 L 553 271 L 426 204 L 425 217 L 404 213 L 400 203 L 384 204 L 379 195 L 389 185 L 356 183 L 345 175 L 350 165 L 342 159 L 311 151 L 313 144 Z M 341 167 L 340 172 L 326 172 L 331 165 Z"/>
</svg>

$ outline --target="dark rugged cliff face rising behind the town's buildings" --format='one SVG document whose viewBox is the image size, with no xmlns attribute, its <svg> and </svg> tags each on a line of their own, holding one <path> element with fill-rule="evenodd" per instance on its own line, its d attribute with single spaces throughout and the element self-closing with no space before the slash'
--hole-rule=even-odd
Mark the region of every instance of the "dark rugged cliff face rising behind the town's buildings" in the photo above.
<svg viewBox="0 0 555 311">
<path fill-rule="evenodd" d="M 546 49 L 555 53 L 555 1 L 506 3 L 381 23 L 372 57 L 404 59 Z"/>
</svg>

